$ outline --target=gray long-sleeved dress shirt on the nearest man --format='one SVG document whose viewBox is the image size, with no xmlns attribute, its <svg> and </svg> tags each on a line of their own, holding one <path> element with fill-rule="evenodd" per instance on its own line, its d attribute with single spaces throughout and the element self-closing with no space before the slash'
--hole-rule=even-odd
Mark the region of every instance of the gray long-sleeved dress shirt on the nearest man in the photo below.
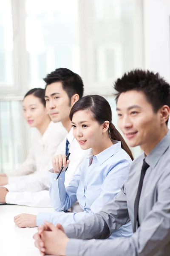
<svg viewBox="0 0 170 256">
<path fill-rule="evenodd" d="M 140 227 L 130 238 L 106 239 L 128 221 L 134 223 L 134 201 L 144 154 L 133 161 L 127 181 L 102 210 L 65 227 L 66 256 L 170 256 L 170 131 L 145 158 L 139 201 Z M 93 240 L 79 240 L 93 239 Z"/>
</svg>

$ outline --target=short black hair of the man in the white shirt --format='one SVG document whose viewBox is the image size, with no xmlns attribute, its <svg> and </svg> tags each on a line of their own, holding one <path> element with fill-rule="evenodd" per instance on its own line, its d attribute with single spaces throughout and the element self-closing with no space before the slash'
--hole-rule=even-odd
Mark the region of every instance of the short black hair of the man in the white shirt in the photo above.
<svg viewBox="0 0 170 256">
<path fill-rule="evenodd" d="M 54 82 L 61 82 L 63 90 L 68 94 L 69 99 L 74 94 L 78 94 L 82 98 L 84 92 L 84 84 L 81 77 L 69 70 L 68 68 L 60 67 L 48 74 L 44 81 L 46 83 L 45 89 L 49 84 Z"/>
</svg>

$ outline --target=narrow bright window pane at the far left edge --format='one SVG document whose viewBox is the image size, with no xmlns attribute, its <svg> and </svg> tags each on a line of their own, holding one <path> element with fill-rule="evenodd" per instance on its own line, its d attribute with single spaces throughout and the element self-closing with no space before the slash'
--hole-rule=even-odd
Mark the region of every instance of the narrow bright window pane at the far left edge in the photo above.
<svg viewBox="0 0 170 256">
<path fill-rule="evenodd" d="M 13 84 L 13 32 L 11 1 L 0 0 L 0 86 Z"/>
</svg>

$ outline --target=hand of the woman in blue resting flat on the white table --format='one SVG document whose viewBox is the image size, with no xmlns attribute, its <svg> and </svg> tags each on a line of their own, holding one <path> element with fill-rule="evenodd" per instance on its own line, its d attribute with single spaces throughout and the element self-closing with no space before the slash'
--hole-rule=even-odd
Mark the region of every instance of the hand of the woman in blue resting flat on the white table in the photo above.
<svg viewBox="0 0 170 256">
<path fill-rule="evenodd" d="M 18 227 L 37 227 L 37 215 L 21 213 L 14 217 Z"/>
</svg>

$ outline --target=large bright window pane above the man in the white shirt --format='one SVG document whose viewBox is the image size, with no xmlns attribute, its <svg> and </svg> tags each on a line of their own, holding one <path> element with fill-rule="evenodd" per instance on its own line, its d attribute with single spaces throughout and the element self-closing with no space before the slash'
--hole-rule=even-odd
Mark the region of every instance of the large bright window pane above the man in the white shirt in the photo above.
<svg viewBox="0 0 170 256">
<path fill-rule="evenodd" d="M 78 0 L 26 0 L 30 87 L 58 67 L 79 73 Z"/>
</svg>

